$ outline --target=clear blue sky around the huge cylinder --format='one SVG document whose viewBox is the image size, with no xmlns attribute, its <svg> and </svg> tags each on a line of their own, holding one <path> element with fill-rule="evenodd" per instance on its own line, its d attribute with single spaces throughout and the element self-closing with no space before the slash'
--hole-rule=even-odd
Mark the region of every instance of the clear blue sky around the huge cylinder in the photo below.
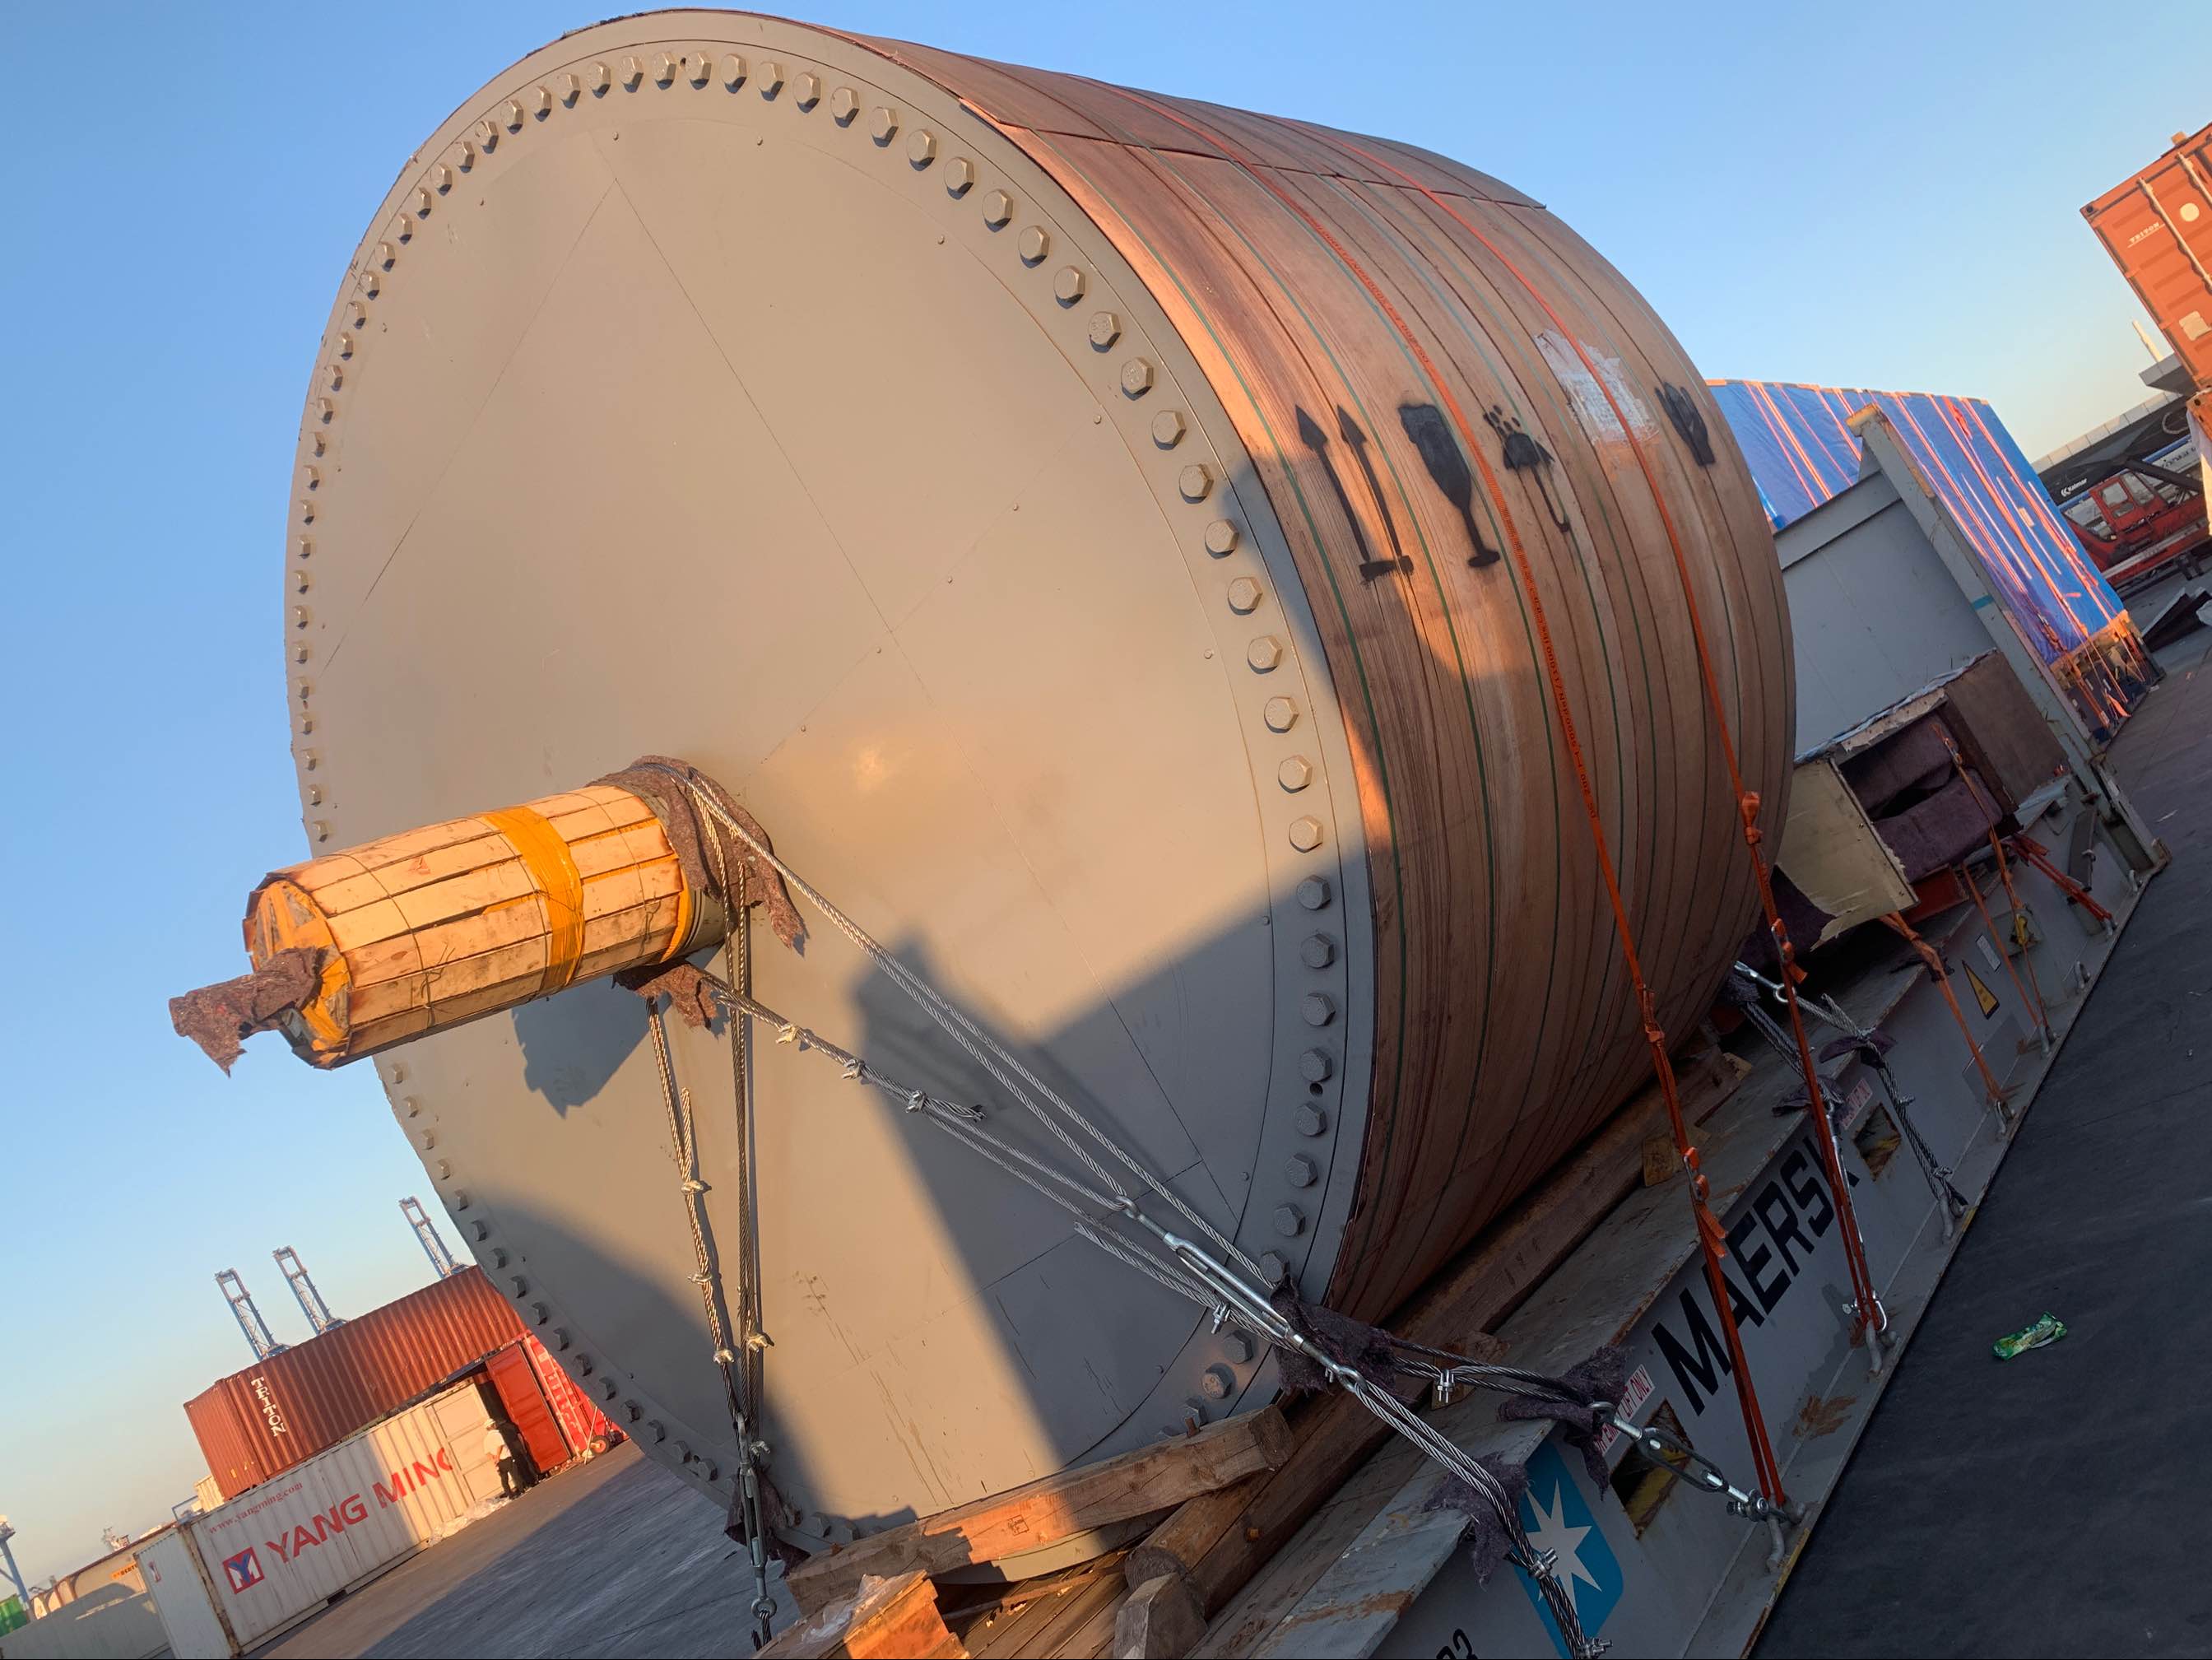
<svg viewBox="0 0 2212 1660">
<path fill-rule="evenodd" d="M 2212 120 L 2212 9 L 1117 7 L 821 0 L 823 22 L 1458 155 L 1562 212 L 1708 374 L 1980 394 L 2028 454 L 2146 396 L 2077 208 Z M 33 1578 L 204 1474 L 179 1403 L 429 1277 L 429 1184 L 361 1069 L 223 1078 L 166 998 L 239 972 L 303 854 L 279 569 L 338 274 L 411 146 L 575 4 L 13 4 L 0 122 L 9 810 L 0 1512 Z M 451 1231 L 449 1231 L 451 1237 Z"/>
</svg>

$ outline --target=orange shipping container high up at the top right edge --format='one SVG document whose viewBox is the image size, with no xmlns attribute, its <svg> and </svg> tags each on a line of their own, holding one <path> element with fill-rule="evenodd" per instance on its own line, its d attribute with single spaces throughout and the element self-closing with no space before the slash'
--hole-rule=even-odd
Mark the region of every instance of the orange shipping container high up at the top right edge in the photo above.
<svg viewBox="0 0 2212 1660">
<path fill-rule="evenodd" d="M 2081 217 L 2190 378 L 2212 387 L 2212 126 L 2177 133 L 2166 155 Z"/>
</svg>

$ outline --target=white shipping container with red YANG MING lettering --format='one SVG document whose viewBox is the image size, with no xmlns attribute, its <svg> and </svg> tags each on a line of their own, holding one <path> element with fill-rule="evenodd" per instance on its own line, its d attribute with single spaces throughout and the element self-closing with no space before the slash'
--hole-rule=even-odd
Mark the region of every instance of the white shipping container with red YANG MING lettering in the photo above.
<svg viewBox="0 0 2212 1660">
<path fill-rule="evenodd" d="M 243 1653 L 500 1492 L 476 1383 L 372 1423 L 139 1554 L 177 1660 Z"/>
</svg>

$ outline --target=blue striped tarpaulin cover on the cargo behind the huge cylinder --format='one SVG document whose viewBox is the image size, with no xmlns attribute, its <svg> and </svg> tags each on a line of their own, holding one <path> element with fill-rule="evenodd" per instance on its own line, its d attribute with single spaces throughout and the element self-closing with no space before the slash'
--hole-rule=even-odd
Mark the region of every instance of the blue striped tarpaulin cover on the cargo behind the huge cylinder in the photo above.
<svg viewBox="0 0 2212 1660">
<path fill-rule="evenodd" d="M 2124 615 L 2013 434 L 1980 398 L 1787 381 L 1712 381 L 1774 529 L 1858 483 L 1854 418 L 1880 409 L 1980 556 L 2028 644 L 2057 662 Z M 1905 480 L 1898 480 L 1902 487 Z"/>
</svg>

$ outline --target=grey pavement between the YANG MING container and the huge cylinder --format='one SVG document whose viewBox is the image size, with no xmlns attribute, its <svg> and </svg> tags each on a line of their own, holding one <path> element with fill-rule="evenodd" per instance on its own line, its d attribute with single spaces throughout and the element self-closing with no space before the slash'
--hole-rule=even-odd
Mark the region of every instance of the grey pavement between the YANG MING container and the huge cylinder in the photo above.
<svg viewBox="0 0 2212 1660">
<path fill-rule="evenodd" d="M 619 1445 L 431 1545 L 263 1656 L 750 1656 L 721 1509 Z"/>
</svg>

